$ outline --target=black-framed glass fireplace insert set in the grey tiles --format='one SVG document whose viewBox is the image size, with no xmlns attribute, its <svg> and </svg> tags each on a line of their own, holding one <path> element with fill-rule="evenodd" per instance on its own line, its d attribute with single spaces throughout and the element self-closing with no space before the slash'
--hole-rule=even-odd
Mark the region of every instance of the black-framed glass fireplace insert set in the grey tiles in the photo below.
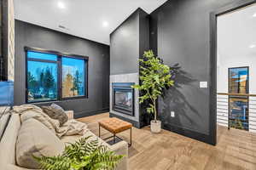
<svg viewBox="0 0 256 170">
<path fill-rule="evenodd" d="M 129 116 L 134 116 L 134 82 L 112 83 L 112 109 Z"/>
</svg>

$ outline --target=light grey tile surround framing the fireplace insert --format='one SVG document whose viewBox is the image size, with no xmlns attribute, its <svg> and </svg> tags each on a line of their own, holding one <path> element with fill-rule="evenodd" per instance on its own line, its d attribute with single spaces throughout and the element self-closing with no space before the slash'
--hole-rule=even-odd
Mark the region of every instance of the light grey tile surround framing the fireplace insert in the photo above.
<svg viewBox="0 0 256 170">
<path fill-rule="evenodd" d="M 110 116 L 116 116 L 119 117 L 127 122 L 131 122 L 133 126 L 139 127 L 139 92 L 137 89 L 134 91 L 134 116 L 125 115 L 124 113 L 120 113 L 117 111 L 113 111 L 112 105 L 113 105 L 113 89 L 112 89 L 112 83 L 113 82 L 134 82 L 136 84 L 139 83 L 139 74 L 138 73 L 130 73 L 130 74 L 119 74 L 119 75 L 111 75 L 110 76 L 110 99 L 109 99 L 109 108 L 110 108 Z"/>
</svg>

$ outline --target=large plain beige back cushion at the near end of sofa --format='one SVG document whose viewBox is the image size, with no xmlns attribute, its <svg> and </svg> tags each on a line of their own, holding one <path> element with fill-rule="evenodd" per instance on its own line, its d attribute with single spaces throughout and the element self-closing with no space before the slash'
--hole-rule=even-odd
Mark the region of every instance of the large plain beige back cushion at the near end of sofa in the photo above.
<svg viewBox="0 0 256 170">
<path fill-rule="evenodd" d="M 41 122 L 31 118 L 22 123 L 16 143 L 16 161 L 20 167 L 38 168 L 32 156 L 56 156 L 64 150 L 61 142 Z"/>
</svg>

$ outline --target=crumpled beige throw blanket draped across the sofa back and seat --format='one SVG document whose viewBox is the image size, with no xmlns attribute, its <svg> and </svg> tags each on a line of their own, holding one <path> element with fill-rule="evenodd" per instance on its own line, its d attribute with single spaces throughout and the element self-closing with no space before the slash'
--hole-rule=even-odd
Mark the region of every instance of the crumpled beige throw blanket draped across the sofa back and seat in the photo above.
<svg viewBox="0 0 256 170">
<path fill-rule="evenodd" d="M 84 135 L 88 130 L 87 125 L 83 122 L 78 122 L 74 119 L 68 120 L 62 126 L 56 119 L 50 118 L 44 111 L 36 105 L 19 105 L 14 106 L 13 114 L 20 115 L 20 122 L 25 122 L 27 119 L 34 118 L 42 122 L 59 138 L 62 136 Z"/>
</svg>

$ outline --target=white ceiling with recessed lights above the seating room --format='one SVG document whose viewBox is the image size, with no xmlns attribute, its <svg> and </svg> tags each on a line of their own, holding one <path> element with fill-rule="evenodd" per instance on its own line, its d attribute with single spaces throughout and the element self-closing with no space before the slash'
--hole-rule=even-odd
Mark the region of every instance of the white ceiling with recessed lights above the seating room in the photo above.
<svg viewBox="0 0 256 170">
<path fill-rule="evenodd" d="M 137 8 L 143 8 L 150 14 L 165 2 L 166 0 L 15 0 L 15 19 L 109 44 L 109 34 Z"/>
</svg>

